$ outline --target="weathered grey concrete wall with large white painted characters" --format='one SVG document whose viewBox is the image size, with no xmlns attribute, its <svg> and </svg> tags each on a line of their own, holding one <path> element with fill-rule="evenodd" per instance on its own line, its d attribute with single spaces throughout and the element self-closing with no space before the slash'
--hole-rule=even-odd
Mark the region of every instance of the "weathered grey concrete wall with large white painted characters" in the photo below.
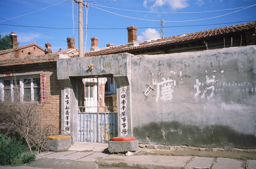
<svg viewBox="0 0 256 169">
<path fill-rule="evenodd" d="M 255 51 L 133 56 L 133 135 L 142 143 L 256 148 Z"/>
</svg>

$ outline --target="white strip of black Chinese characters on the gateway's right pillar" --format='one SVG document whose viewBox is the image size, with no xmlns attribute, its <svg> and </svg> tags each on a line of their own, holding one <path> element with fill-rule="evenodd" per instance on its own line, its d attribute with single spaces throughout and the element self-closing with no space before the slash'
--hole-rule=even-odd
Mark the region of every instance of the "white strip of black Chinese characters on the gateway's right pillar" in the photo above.
<svg viewBox="0 0 256 169">
<path fill-rule="evenodd" d="M 128 135 L 128 119 L 127 119 L 127 86 L 120 86 L 120 122 L 121 136 Z"/>
</svg>

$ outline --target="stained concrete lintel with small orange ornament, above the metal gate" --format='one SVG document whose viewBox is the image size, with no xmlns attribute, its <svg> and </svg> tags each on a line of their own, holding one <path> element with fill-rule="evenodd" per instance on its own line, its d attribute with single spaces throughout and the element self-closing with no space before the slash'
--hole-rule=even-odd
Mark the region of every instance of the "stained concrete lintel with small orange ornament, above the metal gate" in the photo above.
<svg viewBox="0 0 256 169">
<path fill-rule="evenodd" d="M 93 57 L 57 59 L 57 77 L 68 79 L 78 76 L 98 76 L 113 74 L 114 76 L 131 77 L 131 57 L 129 53 L 101 55 Z M 93 64 L 93 69 L 89 68 Z M 65 71 L 67 70 L 67 71 Z"/>
</svg>

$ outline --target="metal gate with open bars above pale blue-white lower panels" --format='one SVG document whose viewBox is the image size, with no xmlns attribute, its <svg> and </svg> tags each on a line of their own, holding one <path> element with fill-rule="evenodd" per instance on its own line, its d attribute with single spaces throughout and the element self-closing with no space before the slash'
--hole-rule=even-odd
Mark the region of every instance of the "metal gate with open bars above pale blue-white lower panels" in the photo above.
<svg viewBox="0 0 256 169">
<path fill-rule="evenodd" d="M 118 136 L 116 85 L 112 76 L 77 80 L 78 141 L 107 143 Z"/>
</svg>

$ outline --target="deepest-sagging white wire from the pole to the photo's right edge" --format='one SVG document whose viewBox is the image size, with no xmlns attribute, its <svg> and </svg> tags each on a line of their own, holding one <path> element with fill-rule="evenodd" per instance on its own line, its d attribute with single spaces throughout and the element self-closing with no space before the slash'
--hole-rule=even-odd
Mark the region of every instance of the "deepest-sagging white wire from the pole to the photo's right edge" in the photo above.
<svg viewBox="0 0 256 169">
<path fill-rule="evenodd" d="M 88 4 L 88 6 L 89 6 L 89 5 L 92 6 L 92 7 L 94 7 L 94 8 L 97 8 L 97 7 L 95 7 L 95 6 L 91 5 L 91 4 Z M 203 18 L 203 19 L 194 19 L 194 20 L 185 20 L 185 21 L 165 21 L 165 22 L 189 22 L 189 21 L 200 21 L 200 20 L 218 18 L 218 17 L 222 17 L 222 16 L 225 16 L 225 15 L 233 14 L 233 13 L 235 13 L 235 12 L 239 12 L 239 11 L 241 11 L 241 10 L 250 8 L 250 7 L 255 6 L 255 5 L 256 5 L 256 4 L 251 5 L 251 6 L 249 6 L 249 7 L 246 7 L 246 8 L 243 8 L 243 9 L 240 9 L 240 10 L 237 10 L 237 11 L 234 11 L 234 12 L 230 12 L 230 13 L 228 13 L 228 14 L 216 16 L 216 17 Z M 125 16 L 125 15 L 116 14 L 116 13 L 114 13 L 114 12 L 110 12 L 110 11 L 107 11 L 107 10 L 104 10 L 104 9 L 101 9 L 101 8 L 97 8 L 97 9 L 100 9 L 100 10 L 103 10 L 103 11 L 106 11 L 106 12 L 109 12 L 109 13 L 111 13 L 111 14 L 115 14 L 115 15 L 118 15 L 118 16 L 126 17 L 126 18 L 139 19 L 139 20 L 146 20 L 146 21 L 161 21 L 161 20 L 151 20 L 151 19 L 142 19 L 142 18 L 129 17 L 129 16 Z"/>
</svg>

